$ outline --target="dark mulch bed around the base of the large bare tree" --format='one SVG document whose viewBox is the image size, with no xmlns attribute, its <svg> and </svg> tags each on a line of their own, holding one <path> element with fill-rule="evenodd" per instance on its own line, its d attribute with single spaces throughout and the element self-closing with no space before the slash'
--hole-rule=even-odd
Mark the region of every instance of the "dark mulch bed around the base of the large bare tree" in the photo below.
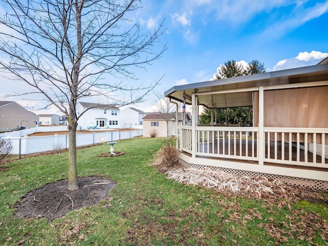
<svg viewBox="0 0 328 246">
<path fill-rule="evenodd" d="M 72 210 L 94 206 L 107 200 L 116 183 L 105 176 L 78 177 L 78 189 L 69 191 L 68 179 L 47 183 L 25 194 L 15 204 L 16 217 L 53 220 Z"/>
</svg>

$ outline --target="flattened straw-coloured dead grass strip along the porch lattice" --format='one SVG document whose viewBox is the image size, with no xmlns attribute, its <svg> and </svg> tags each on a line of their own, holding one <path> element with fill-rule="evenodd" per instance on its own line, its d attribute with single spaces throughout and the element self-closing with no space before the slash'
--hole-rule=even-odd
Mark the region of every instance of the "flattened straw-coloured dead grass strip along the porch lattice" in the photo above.
<svg viewBox="0 0 328 246">
<path fill-rule="evenodd" d="M 250 178 L 237 176 L 222 171 L 212 171 L 209 168 L 179 168 L 166 171 L 166 174 L 168 178 L 186 183 L 187 185 L 203 186 L 235 194 L 255 194 L 259 198 L 263 194 L 286 193 L 286 186 L 278 179 L 269 180 L 265 177 Z"/>
</svg>

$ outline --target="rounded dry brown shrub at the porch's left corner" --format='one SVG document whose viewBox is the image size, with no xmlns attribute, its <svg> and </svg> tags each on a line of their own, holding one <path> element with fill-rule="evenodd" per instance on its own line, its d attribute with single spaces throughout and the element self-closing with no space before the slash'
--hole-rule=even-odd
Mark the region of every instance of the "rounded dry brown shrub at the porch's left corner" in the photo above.
<svg viewBox="0 0 328 246">
<path fill-rule="evenodd" d="M 159 172 L 166 172 L 171 168 L 178 167 L 179 151 L 175 145 L 168 143 L 164 145 L 155 155 L 154 166 Z"/>
</svg>

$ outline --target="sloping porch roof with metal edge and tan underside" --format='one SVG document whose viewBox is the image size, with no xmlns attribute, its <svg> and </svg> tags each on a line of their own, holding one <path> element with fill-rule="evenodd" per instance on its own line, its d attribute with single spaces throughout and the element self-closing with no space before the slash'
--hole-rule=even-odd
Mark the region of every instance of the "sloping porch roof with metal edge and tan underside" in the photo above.
<svg viewBox="0 0 328 246">
<path fill-rule="evenodd" d="M 166 91 L 165 96 L 181 102 L 183 102 L 183 97 L 185 97 L 186 104 L 191 105 L 192 93 L 204 92 L 204 94 L 198 95 L 198 105 L 203 105 L 208 108 L 212 108 L 212 105 L 216 108 L 252 106 L 252 92 L 233 92 L 211 95 L 206 94 L 206 92 L 239 90 L 259 86 L 297 84 L 324 80 L 328 80 L 328 64 L 175 86 Z"/>
</svg>

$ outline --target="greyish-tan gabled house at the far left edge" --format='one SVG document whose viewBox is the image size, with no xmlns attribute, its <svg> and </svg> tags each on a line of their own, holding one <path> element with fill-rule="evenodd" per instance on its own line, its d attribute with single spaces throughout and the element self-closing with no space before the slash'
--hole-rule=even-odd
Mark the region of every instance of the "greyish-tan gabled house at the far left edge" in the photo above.
<svg viewBox="0 0 328 246">
<path fill-rule="evenodd" d="M 26 122 L 28 121 L 28 122 Z M 14 131 L 38 126 L 38 117 L 15 101 L 0 101 L 0 131 Z"/>
</svg>

